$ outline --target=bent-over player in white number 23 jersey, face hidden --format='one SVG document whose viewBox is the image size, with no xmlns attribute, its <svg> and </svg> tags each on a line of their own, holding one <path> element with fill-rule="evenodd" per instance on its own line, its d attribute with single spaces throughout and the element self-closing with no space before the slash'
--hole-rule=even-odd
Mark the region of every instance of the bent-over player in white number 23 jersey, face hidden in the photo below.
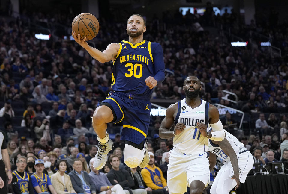
<svg viewBox="0 0 288 194">
<path fill-rule="evenodd" d="M 253 155 L 245 148 L 244 144 L 229 132 L 225 132 L 226 137 L 223 141 L 209 140 L 208 149 L 212 153 L 209 156 L 209 162 L 212 168 L 216 164 L 216 155 L 225 161 L 212 184 L 211 194 L 228 194 L 235 186 L 236 190 L 239 187 L 239 182 L 236 183 L 236 181 L 239 181 L 240 177 L 240 182 L 245 183 L 246 177 L 254 164 Z M 231 149 L 227 149 L 228 144 L 232 146 L 233 152 L 237 155 L 236 158 L 231 157 L 231 153 L 228 154 L 228 152 L 231 152 Z M 237 158 L 238 162 L 235 161 Z M 238 180 L 235 179 L 235 175 L 238 175 Z"/>
</svg>

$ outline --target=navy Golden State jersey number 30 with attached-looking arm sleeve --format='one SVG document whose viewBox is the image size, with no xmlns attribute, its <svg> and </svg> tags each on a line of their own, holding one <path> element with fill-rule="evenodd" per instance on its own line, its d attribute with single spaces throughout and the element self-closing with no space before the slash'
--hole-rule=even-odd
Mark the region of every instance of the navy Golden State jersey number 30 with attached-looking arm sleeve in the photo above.
<svg viewBox="0 0 288 194">
<path fill-rule="evenodd" d="M 140 96 L 151 96 L 153 90 L 146 86 L 146 78 L 152 76 L 158 83 L 164 80 L 164 78 L 158 80 L 155 77 L 159 72 L 163 72 L 161 77 L 164 77 L 161 45 L 146 40 L 135 45 L 123 40 L 119 45 L 120 49 L 112 69 L 113 90 Z"/>
</svg>

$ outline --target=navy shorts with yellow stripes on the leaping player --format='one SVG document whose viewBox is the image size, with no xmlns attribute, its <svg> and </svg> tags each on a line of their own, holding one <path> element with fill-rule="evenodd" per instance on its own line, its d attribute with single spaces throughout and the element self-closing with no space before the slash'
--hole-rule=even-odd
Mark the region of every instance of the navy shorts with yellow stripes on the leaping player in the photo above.
<svg viewBox="0 0 288 194">
<path fill-rule="evenodd" d="M 116 114 L 113 124 L 123 122 L 121 140 L 142 143 L 150 124 L 150 98 L 124 92 L 110 92 L 106 100 Z"/>
</svg>

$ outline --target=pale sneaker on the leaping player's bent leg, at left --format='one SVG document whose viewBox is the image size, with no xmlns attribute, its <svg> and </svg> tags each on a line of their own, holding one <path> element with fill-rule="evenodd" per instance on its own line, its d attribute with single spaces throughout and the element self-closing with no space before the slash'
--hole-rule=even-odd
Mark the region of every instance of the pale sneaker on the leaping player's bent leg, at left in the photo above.
<svg viewBox="0 0 288 194">
<path fill-rule="evenodd" d="M 97 154 L 95 155 L 93 167 L 96 170 L 102 169 L 107 163 L 107 155 L 114 147 L 114 142 L 109 139 L 107 143 L 98 142 L 99 148 Z"/>
</svg>

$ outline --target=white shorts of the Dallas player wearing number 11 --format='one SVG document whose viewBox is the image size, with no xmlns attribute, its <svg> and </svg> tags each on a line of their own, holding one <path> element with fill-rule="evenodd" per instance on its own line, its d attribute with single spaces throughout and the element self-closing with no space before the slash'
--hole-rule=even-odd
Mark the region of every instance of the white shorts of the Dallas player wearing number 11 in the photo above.
<svg viewBox="0 0 288 194">
<path fill-rule="evenodd" d="M 167 187 L 169 193 L 186 192 L 187 184 L 194 180 L 202 181 L 205 186 L 210 182 L 208 153 L 185 154 L 177 148 L 170 151 Z"/>
</svg>

